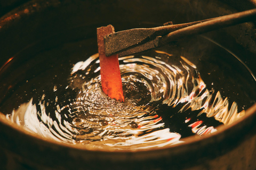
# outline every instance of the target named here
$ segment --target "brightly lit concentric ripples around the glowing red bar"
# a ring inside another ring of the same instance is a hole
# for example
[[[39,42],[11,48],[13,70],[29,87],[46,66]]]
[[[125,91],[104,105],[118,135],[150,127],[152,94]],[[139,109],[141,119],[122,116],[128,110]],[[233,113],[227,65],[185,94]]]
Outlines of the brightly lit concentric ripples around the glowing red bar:
[[[236,103],[229,106],[219,91],[207,89],[196,65],[186,57],[177,60],[156,50],[150,56],[121,57],[119,64],[124,103],[102,92],[95,54],[74,65],[68,86],[54,86],[54,97],[43,96],[39,103],[31,98],[6,118],[60,142],[147,149],[180,143],[191,134],[213,133],[216,126],[245,113],[237,112]]]

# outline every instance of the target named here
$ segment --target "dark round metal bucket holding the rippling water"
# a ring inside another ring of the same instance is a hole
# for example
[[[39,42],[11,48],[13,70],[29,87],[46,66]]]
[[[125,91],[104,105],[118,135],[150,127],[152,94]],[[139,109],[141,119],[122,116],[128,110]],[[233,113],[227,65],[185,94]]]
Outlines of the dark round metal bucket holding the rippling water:
[[[102,25],[113,24],[116,30],[125,30],[171,20],[185,23],[255,6],[254,1],[30,1],[0,19],[1,71],[13,56],[31,57],[60,43],[94,36],[95,28]],[[73,33],[67,34],[70,30]],[[47,39],[55,35],[58,37],[55,41]],[[232,49],[256,74],[253,23],[210,32],[207,36]],[[42,46],[35,48],[33,44],[38,40]],[[0,75],[1,80],[3,76]],[[9,88],[10,83],[1,82],[1,102]],[[254,102],[255,99],[254,96]],[[247,105],[250,108],[244,117],[219,126],[211,135],[188,137],[178,145],[141,151],[67,145],[25,131],[0,114],[0,166],[2,169],[256,169],[256,105],[253,101]]]

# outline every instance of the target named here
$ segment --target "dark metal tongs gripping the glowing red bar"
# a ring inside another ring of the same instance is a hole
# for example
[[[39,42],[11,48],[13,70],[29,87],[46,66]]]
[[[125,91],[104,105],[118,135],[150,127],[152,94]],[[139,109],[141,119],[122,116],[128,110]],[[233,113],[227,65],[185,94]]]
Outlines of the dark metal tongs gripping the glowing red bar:
[[[119,54],[119,56],[136,54],[164,46],[171,41],[177,41],[181,38],[254,20],[256,20],[256,8],[201,21],[174,25],[172,22],[167,22],[162,27],[119,31],[104,37],[105,53],[106,56],[113,54]]]

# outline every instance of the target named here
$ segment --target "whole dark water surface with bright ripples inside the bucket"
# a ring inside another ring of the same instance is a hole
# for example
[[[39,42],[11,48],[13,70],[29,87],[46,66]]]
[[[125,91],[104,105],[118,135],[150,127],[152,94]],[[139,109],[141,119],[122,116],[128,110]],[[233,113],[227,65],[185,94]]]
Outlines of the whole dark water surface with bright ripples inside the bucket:
[[[146,149],[214,133],[245,114],[255,80],[226,49],[196,42],[203,46],[120,57],[124,103],[101,90],[94,39],[13,58],[2,71],[10,86],[0,111],[43,137],[93,148]]]

